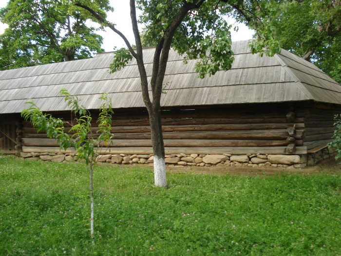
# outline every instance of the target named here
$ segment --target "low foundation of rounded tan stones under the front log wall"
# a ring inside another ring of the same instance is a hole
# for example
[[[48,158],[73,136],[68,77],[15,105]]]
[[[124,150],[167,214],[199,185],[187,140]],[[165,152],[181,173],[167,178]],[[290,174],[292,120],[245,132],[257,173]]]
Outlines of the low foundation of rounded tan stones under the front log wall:
[[[44,160],[54,162],[76,161],[76,155],[73,153],[21,153],[22,158],[27,160]],[[112,164],[151,164],[152,155],[99,155],[97,162],[106,162]],[[165,156],[166,165],[169,166],[226,166],[226,167],[278,167],[278,168],[303,168],[307,166],[306,155],[198,155],[198,154],[172,154]]]

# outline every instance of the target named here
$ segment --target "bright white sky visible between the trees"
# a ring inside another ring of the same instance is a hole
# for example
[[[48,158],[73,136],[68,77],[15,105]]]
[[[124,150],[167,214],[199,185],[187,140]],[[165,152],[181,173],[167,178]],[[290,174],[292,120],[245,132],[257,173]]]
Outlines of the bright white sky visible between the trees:
[[[0,8],[7,5],[8,0],[0,0]],[[108,20],[116,24],[116,28],[120,30],[130,41],[134,43],[133,30],[130,21],[130,8],[128,0],[110,0],[111,6],[114,7],[114,12],[108,14]],[[233,20],[230,20],[230,24],[234,25]],[[232,41],[251,39],[253,31],[249,30],[244,24],[236,24],[239,27],[238,32],[231,31]],[[0,23],[0,34],[3,33],[6,28],[5,24]],[[106,52],[111,52],[114,47],[117,49],[125,47],[123,39],[117,36],[112,30],[106,29],[106,31],[98,31],[103,37],[102,48]]]

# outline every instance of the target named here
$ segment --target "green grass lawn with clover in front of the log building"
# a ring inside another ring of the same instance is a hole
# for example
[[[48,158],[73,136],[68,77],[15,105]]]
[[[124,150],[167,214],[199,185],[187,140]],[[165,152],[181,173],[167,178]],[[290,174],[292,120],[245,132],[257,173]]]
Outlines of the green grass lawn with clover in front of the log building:
[[[168,174],[0,158],[0,255],[341,255],[341,176]]]

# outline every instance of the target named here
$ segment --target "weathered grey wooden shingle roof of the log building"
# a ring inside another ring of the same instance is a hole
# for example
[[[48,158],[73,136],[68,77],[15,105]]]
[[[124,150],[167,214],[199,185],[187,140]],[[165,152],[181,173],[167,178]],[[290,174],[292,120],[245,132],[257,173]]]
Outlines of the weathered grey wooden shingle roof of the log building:
[[[200,106],[314,100],[341,104],[341,85],[314,64],[285,50],[274,57],[252,55],[248,41],[233,42],[232,68],[205,79],[197,78],[196,60],[183,63],[171,51],[164,80],[167,94],[162,106]],[[154,49],[144,50],[150,78]],[[140,78],[133,59],[119,72],[109,74],[114,53],[34,67],[0,71],[0,113],[20,113],[27,98],[42,111],[68,110],[59,91],[66,88],[88,109],[100,107],[103,93],[112,98],[114,108],[144,107]]]

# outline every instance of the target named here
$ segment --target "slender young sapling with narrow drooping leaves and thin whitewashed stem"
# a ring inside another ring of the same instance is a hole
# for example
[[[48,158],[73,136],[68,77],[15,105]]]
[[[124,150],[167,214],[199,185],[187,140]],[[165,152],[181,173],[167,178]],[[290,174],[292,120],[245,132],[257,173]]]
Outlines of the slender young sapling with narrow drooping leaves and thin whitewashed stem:
[[[74,147],[76,149],[77,159],[85,161],[86,165],[90,163],[90,200],[91,200],[91,218],[90,218],[90,230],[94,244],[94,196],[93,196],[93,170],[96,163],[95,157],[97,152],[95,145],[99,147],[101,141],[105,141],[107,145],[108,141],[113,138],[111,134],[112,123],[112,110],[111,99],[108,99],[107,94],[103,94],[100,99],[104,100],[104,103],[99,108],[99,117],[97,122],[99,136],[94,139],[91,131],[91,116],[90,112],[86,110],[82,105],[79,105],[79,99],[77,96],[70,95],[66,89],[60,90],[60,94],[65,96],[65,101],[68,102],[68,106],[71,107],[72,113],[76,118],[76,123],[65,122],[59,118],[53,118],[51,114],[43,114],[38,106],[31,99],[26,102],[30,104],[28,109],[24,109],[21,113],[25,120],[29,120],[34,127],[37,128],[37,132],[44,131],[49,138],[56,138],[57,143],[60,144],[60,149],[66,150],[67,148]],[[72,117],[74,118],[74,117]],[[72,120],[73,122],[73,120]],[[69,134],[64,132],[65,125],[71,126]]]

